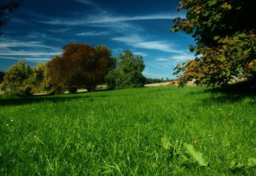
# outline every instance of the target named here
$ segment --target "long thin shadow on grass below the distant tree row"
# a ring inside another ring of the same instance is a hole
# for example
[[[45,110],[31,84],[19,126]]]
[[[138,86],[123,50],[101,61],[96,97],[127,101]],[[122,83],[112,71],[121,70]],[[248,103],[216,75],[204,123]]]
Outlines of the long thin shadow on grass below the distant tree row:
[[[79,100],[81,98],[88,98],[92,101],[96,97],[108,97],[107,95],[86,95],[87,93],[76,93],[72,95],[36,95],[31,97],[15,97],[15,98],[0,98],[0,106],[8,105],[24,105],[24,104],[35,104],[39,102],[66,102],[69,100]]]

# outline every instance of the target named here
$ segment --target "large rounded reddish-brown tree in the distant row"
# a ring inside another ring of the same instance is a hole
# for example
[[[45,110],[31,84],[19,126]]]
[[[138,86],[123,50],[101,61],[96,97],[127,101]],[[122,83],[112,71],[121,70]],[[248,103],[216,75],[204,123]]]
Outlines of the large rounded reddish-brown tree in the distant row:
[[[56,55],[49,63],[53,86],[56,90],[68,89],[71,93],[81,87],[95,91],[114,66],[111,55],[106,46],[93,48],[76,43],[63,46],[63,54]]]

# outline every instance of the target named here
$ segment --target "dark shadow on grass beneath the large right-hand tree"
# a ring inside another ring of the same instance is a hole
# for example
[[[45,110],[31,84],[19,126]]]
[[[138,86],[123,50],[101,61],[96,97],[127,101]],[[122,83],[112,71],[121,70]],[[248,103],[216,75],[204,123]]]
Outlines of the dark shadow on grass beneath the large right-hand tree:
[[[252,81],[243,81],[236,84],[225,85],[223,87],[207,89],[204,92],[212,94],[211,97],[203,100],[205,104],[212,101],[218,103],[233,103],[241,101],[246,97],[255,98],[256,87],[255,83]]]

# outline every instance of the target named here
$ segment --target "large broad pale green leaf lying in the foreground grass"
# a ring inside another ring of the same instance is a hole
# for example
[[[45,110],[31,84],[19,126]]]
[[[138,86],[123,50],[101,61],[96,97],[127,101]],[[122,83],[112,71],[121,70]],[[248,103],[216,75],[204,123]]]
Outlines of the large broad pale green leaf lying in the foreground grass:
[[[208,166],[209,161],[207,160],[207,158],[203,156],[203,153],[201,153],[200,151],[197,151],[197,149],[195,149],[193,145],[184,143],[184,147],[186,149],[186,153],[188,153],[188,155],[191,158],[197,161],[200,166]]]

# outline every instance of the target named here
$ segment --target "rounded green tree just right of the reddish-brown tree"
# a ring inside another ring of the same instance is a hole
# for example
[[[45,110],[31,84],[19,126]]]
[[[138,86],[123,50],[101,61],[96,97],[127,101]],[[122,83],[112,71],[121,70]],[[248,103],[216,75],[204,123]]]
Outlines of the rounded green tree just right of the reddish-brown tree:
[[[119,54],[116,68],[105,78],[108,89],[143,87],[146,82],[146,78],[142,75],[144,67],[141,56],[134,56],[129,50]]]

